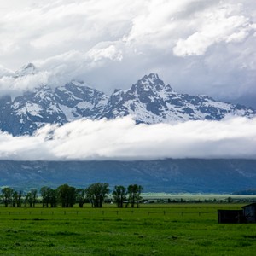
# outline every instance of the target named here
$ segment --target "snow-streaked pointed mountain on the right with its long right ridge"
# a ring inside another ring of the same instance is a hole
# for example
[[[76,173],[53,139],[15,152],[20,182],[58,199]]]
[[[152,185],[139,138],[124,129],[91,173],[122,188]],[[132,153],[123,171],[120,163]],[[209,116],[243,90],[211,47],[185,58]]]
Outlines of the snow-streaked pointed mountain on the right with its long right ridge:
[[[151,73],[133,84],[130,90],[118,90],[110,96],[103,116],[114,119],[131,114],[137,123],[160,123],[197,119],[223,119],[227,114],[253,117],[255,111],[243,106],[216,102],[208,96],[178,94]]]

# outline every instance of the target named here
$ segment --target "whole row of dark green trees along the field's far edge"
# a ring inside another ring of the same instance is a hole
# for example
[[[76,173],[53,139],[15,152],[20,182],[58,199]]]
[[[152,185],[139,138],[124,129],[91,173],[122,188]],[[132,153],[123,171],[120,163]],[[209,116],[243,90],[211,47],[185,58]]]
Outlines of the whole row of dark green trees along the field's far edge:
[[[127,188],[115,186],[112,194],[108,183],[93,183],[85,189],[76,189],[68,184],[63,184],[57,189],[44,186],[40,190],[31,189],[25,193],[5,187],[1,191],[1,201],[5,207],[35,207],[41,203],[43,207],[73,207],[76,203],[84,207],[85,202],[90,202],[91,207],[102,207],[109,195],[117,207],[139,207],[142,201],[143,187],[131,184]],[[38,197],[40,195],[40,198]]]

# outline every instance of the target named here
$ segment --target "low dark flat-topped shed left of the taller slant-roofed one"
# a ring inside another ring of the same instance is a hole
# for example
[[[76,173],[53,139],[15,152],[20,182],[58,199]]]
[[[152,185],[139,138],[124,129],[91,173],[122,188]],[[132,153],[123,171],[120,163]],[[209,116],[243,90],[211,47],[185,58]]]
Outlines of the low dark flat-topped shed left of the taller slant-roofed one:
[[[218,210],[218,223],[244,223],[242,210]]]

